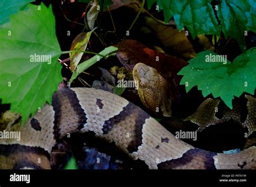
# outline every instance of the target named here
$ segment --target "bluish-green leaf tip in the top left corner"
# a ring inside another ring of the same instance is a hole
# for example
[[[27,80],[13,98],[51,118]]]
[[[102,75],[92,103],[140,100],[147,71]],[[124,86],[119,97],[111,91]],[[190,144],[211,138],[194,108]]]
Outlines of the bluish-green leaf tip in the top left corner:
[[[9,22],[10,15],[17,13],[33,0],[2,0],[0,2],[0,25]]]

